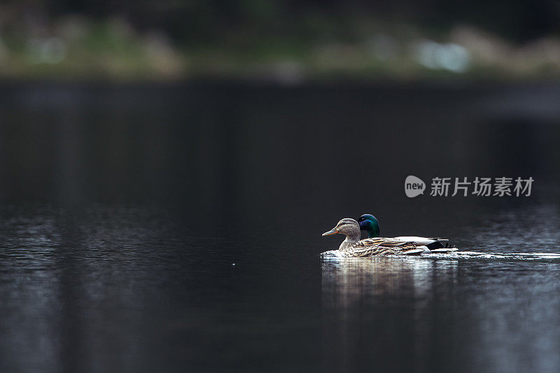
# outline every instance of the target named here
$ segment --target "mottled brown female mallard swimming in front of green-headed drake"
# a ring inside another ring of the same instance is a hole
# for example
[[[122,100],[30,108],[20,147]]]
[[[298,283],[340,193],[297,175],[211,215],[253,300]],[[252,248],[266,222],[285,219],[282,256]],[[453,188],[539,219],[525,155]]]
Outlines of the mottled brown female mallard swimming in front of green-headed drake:
[[[344,218],[338,222],[332,230],[323,233],[323,236],[331,234],[344,234],[346,239],[338,248],[341,256],[363,257],[374,255],[419,255],[426,251],[425,246],[414,244],[414,242],[400,241],[398,239],[386,239],[381,237],[363,239],[360,241],[360,225],[356,220]]]

